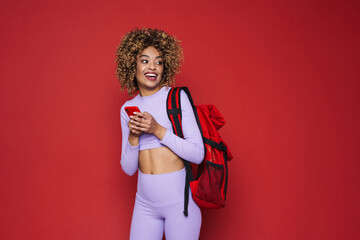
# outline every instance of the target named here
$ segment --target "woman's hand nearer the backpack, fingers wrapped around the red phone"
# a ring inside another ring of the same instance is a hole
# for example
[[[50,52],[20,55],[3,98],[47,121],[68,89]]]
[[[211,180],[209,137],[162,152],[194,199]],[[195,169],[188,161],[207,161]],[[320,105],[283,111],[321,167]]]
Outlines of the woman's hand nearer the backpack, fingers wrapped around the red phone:
[[[135,112],[130,122],[136,130],[153,134],[160,140],[164,137],[167,131],[166,128],[158,124],[155,118],[148,112]]]

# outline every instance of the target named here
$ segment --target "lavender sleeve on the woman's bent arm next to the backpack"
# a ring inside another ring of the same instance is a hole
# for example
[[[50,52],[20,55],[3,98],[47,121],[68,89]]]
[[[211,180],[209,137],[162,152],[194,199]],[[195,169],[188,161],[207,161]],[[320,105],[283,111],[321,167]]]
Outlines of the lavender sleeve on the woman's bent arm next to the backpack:
[[[167,130],[160,142],[180,158],[200,164],[205,154],[204,143],[189,98],[184,91],[180,94],[184,139]]]

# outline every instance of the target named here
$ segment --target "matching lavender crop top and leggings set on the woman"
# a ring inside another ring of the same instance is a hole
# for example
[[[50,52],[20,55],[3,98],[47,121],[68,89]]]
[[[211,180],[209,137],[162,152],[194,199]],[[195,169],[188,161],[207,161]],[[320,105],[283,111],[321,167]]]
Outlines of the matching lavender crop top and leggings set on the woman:
[[[182,129],[184,139],[173,133],[166,113],[166,98],[170,87],[163,87],[150,96],[138,94],[127,101],[120,111],[122,129],[121,167],[128,175],[138,170],[139,151],[168,147],[177,156],[199,164],[204,158],[204,144],[187,95],[181,92]],[[141,112],[150,113],[167,129],[162,140],[152,134],[143,133],[139,145],[131,146],[130,120],[124,108],[137,106]],[[161,240],[163,232],[167,240],[198,239],[201,227],[201,212],[189,197],[189,216],[184,216],[185,169],[164,174],[144,174],[138,171],[136,200],[131,222],[131,240]]]

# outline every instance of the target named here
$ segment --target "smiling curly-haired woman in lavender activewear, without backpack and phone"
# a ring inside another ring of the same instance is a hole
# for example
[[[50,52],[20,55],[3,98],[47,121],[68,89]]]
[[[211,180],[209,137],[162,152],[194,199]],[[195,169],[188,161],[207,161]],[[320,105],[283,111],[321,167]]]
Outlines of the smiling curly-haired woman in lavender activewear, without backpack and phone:
[[[179,41],[157,29],[127,33],[116,53],[117,77],[122,90],[138,94],[121,107],[121,166],[138,186],[130,239],[198,239],[201,212],[191,194],[188,216],[184,210],[183,159],[199,164],[204,145],[187,95],[181,92],[184,138],[173,133],[166,113],[166,98],[182,61]],[[125,107],[140,112],[128,116]]]

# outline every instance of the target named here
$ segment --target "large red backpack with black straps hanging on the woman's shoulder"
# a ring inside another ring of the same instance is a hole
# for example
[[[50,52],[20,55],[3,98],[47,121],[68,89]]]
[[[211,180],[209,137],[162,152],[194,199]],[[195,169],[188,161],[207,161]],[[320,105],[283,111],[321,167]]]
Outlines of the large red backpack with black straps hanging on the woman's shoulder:
[[[193,177],[191,165],[184,160],[186,168],[184,215],[188,215],[189,186],[192,197],[201,208],[220,208],[225,206],[228,184],[227,161],[232,155],[219,130],[225,120],[214,105],[195,106],[187,87],[172,88],[167,97],[167,114],[173,125],[174,133],[184,138],[181,128],[180,91],[184,90],[193,107],[195,118],[199,126],[205,149],[204,160],[197,166],[196,178]]]

